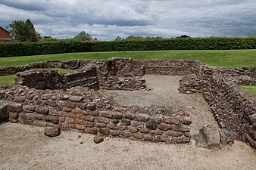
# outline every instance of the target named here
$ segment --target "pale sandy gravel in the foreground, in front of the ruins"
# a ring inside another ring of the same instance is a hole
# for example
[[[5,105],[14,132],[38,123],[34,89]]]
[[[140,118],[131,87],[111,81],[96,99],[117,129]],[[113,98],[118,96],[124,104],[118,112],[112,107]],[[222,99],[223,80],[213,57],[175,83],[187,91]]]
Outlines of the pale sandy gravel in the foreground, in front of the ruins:
[[[81,135],[81,138],[78,138]],[[62,131],[55,138],[43,128],[0,125],[0,169],[256,169],[255,151],[236,141],[221,150],[191,144],[163,144]],[[83,144],[80,144],[83,143]]]

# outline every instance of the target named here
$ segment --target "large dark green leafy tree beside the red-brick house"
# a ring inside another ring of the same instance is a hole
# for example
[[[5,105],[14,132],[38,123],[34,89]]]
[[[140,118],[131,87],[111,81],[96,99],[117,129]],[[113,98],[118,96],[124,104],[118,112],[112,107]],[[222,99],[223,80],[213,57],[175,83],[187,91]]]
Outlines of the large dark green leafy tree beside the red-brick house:
[[[8,29],[11,37],[18,42],[38,42],[41,38],[30,19],[27,19],[26,22],[14,20],[9,24]]]

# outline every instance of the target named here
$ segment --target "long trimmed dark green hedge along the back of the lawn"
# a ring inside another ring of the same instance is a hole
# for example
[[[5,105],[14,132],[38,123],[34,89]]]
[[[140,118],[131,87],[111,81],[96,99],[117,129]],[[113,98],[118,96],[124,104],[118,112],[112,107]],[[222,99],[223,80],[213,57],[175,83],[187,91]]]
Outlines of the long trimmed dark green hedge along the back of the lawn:
[[[213,37],[112,42],[5,42],[0,57],[70,52],[256,49],[256,37]]]

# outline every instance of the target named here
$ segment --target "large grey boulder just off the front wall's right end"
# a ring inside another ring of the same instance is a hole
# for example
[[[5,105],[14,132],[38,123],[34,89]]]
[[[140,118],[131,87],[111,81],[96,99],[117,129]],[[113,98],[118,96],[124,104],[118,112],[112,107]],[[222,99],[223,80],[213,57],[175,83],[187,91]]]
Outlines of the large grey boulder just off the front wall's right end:
[[[195,136],[196,146],[214,149],[220,147],[220,133],[211,125],[204,125]]]

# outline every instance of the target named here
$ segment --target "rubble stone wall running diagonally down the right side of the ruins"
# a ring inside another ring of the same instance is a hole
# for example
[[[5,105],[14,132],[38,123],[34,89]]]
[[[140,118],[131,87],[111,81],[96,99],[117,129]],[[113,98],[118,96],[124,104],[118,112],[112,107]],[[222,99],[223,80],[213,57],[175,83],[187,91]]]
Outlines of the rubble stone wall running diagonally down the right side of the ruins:
[[[242,91],[228,78],[223,77],[220,70],[205,67],[198,75],[184,76],[179,90],[203,94],[220,128],[235,131],[237,139],[256,148],[255,97]]]

